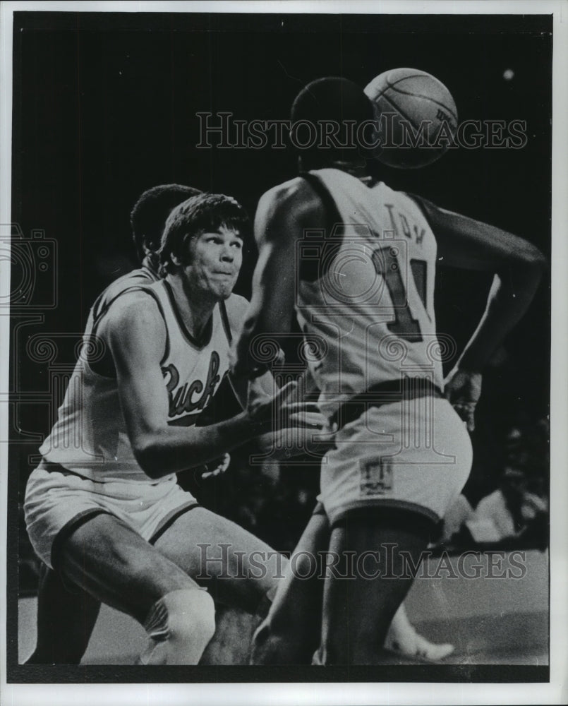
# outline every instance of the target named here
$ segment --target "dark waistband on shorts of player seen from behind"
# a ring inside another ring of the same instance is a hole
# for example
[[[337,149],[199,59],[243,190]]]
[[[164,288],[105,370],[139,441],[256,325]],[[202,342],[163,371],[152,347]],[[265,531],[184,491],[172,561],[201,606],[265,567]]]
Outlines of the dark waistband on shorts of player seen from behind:
[[[346,424],[361,417],[368,407],[382,407],[392,402],[416,400],[419,397],[444,397],[444,393],[428,378],[400,378],[377,383],[367,392],[354,395],[350,400],[343,402],[337,412],[332,414],[330,425],[332,428],[342,429]]]

